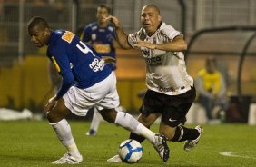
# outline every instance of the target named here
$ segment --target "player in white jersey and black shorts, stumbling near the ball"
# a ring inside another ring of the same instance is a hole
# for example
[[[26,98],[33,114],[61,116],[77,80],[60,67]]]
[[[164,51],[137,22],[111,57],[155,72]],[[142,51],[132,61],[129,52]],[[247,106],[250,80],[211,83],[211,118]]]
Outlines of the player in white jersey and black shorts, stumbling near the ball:
[[[155,5],[145,5],[141,13],[142,28],[134,34],[125,34],[119,20],[113,15],[110,20],[123,49],[140,47],[146,62],[147,92],[140,109],[139,122],[150,127],[162,115],[159,133],[167,140],[183,142],[184,150],[197,145],[202,135],[202,127],[186,128],[188,113],[194,99],[195,88],[192,77],[187,74],[184,54],[187,44],[180,32],[162,22],[160,10]],[[144,138],[131,133],[131,139],[143,142]],[[109,162],[122,162],[118,155]]]

